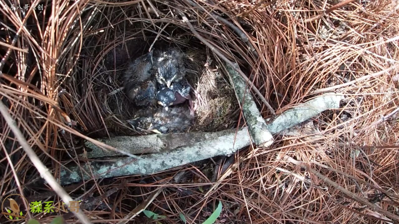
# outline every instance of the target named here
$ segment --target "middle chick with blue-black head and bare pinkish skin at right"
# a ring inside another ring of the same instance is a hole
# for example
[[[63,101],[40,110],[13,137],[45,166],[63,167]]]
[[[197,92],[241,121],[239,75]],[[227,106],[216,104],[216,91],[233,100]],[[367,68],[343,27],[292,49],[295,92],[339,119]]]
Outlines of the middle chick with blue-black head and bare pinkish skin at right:
[[[166,110],[171,105],[181,104],[188,100],[190,104],[190,114],[194,115],[193,100],[190,96],[191,87],[185,78],[172,83],[170,88],[163,88],[158,91],[156,96],[158,104],[164,106]]]

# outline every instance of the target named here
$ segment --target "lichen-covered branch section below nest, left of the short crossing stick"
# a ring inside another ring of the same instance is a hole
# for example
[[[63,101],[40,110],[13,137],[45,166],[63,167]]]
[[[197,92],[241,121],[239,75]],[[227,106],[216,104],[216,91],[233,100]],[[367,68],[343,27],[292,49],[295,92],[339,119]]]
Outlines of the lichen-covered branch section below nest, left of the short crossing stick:
[[[107,159],[106,162],[92,161],[82,167],[69,166],[61,171],[61,185],[79,182],[83,179],[119,177],[132,174],[146,175],[156,173],[187,163],[215,157],[218,155],[231,155],[249,145],[247,129],[240,130],[237,138],[234,134],[227,134],[211,138],[188,146],[182,146],[172,151],[163,151],[143,155],[140,160],[131,157]],[[83,173],[88,171],[88,173]]]

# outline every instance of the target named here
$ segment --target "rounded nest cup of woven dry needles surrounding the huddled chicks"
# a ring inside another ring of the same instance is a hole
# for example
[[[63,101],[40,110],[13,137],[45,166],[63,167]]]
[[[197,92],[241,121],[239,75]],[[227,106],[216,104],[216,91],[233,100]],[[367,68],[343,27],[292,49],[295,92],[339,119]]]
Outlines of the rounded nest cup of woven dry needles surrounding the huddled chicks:
[[[89,18],[82,33],[84,47],[71,74],[75,85],[66,86],[71,101],[79,99],[81,106],[65,104],[65,108],[67,113],[79,116],[84,124],[82,131],[89,136],[137,134],[126,120],[134,118],[140,108],[134,106],[121,88],[123,73],[129,62],[149,49],[169,47],[176,47],[186,55],[186,78],[193,87],[191,95],[196,110],[190,130],[212,132],[236,125],[237,100],[221,61],[190,33],[170,5],[154,4],[154,8],[142,4],[93,7],[86,12]],[[112,16],[105,17],[98,10],[111,11],[107,14]]]

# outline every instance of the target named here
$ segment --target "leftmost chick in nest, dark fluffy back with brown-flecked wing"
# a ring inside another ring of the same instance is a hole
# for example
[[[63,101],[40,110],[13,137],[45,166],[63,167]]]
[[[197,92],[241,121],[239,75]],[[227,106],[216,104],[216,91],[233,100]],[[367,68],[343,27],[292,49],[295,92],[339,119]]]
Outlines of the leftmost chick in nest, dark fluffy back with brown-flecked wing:
[[[146,53],[134,60],[123,76],[124,90],[137,106],[152,103],[156,96],[156,82],[152,76],[152,53]]]

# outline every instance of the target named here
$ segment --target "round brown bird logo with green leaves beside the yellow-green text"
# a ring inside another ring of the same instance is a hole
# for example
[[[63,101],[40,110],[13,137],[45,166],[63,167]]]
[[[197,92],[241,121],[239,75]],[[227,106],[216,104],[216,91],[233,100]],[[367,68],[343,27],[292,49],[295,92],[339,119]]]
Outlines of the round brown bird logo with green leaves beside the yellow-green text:
[[[12,196],[13,196],[13,198],[12,198]],[[26,198],[24,196],[19,195],[19,194],[8,195],[6,198],[4,198],[4,200],[1,204],[1,210],[2,210],[1,214],[6,216],[6,218],[10,221],[21,221],[22,219],[26,218],[20,209],[20,205],[14,199],[17,197],[22,198],[22,200],[25,200],[26,203],[29,204],[28,200],[26,200]],[[18,200],[18,201],[22,201],[22,200]],[[6,202],[9,202],[10,206],[7,206]]]

